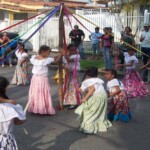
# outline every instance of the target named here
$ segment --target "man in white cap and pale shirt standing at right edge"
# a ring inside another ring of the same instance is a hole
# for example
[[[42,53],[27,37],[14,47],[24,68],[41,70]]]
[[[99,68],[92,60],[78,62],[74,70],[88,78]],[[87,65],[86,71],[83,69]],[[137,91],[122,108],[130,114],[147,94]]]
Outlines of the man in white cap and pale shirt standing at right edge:
[[[150,57],[150,25],[149,24],[144,24],[144,31],[141,34],[140,42],[141,42],[142,52]],[[149,59],[149,57],[146,55],[143,55],[144,65],[147,64]]]

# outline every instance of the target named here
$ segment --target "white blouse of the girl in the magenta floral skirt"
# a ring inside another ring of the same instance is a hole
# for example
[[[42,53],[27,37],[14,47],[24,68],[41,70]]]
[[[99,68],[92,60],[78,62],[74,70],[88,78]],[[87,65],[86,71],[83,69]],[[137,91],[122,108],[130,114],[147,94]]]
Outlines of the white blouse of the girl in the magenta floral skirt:
[[[126,65],[130,64],[131,61],[134,61],[132,66],[126,66],[127,69],[135,69],[136,68],[136,64],[138,63],[138,59],[135,55],[130,56],[128,53],[124,53],[125,56],[125,63]]]

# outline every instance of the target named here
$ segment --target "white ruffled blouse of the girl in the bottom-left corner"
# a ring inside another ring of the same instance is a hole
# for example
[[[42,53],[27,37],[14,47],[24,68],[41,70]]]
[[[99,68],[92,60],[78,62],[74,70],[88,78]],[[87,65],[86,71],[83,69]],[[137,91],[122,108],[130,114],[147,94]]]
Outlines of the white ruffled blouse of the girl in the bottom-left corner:
[[[25,113],[20,105],[9,103],[0,103],[0,134],[9,134],[13,132],[14,118],[25,120]]]

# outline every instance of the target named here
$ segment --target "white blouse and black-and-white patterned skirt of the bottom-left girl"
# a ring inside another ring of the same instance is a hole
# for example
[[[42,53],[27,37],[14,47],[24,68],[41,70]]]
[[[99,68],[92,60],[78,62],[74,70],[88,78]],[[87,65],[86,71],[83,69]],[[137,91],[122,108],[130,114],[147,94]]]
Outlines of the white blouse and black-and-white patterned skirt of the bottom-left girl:
[[[0,150],[18,150],[13,136],[14,118],[25,120],[25,114],[20,105],[0,104]]]

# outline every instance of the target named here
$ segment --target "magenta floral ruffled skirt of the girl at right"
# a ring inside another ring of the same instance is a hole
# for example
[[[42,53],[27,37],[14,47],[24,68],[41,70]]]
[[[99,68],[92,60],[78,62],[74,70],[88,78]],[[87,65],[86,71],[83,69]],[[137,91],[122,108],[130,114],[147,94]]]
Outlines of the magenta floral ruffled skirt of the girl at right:
[[[122,82],[129,98],[142,97],[150,94],[148,87],[135,70],[128,69]]]

